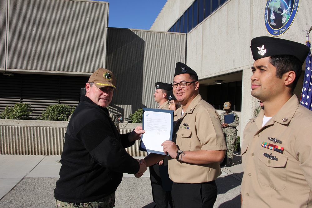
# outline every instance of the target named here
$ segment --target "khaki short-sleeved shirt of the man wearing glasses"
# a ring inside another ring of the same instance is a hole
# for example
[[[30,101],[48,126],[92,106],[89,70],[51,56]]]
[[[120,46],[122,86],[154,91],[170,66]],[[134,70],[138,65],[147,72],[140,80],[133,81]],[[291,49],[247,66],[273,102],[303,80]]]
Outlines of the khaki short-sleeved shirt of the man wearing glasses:
[[[227,150],[217,111],[198,94],[181,117],[182,107],[174,112],[173,141],[184,151]],[[168,161],[169,177],[176,183],[204,183],[221,175],[219,162],[191,164]]]

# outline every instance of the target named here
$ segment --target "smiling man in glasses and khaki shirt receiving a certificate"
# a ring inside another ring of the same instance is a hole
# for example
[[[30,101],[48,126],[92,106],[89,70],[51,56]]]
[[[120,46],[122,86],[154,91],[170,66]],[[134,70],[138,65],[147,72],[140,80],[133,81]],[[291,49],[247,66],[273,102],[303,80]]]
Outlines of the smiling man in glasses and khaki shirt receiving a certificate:
[[[173,206],[213,207],[217,198],[215,179],[227,150],[217,111],[198,93],[198,76],[187,65],[176,64],[173,94],[182,106],[174,112],[173,139],[163,151],[170,155],[169,177],[173,181]],[[149,154],[147,166],[163,155]]]

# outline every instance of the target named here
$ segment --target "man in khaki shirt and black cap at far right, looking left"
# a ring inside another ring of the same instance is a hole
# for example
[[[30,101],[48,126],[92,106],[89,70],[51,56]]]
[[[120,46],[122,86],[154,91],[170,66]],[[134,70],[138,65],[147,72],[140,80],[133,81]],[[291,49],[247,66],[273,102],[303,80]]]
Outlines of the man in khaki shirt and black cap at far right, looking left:
[[[264,110],[244,130],[242,207],[312,207],[312,112],[293,94],[310,49],[274,37],[250,47],[251,95]]]

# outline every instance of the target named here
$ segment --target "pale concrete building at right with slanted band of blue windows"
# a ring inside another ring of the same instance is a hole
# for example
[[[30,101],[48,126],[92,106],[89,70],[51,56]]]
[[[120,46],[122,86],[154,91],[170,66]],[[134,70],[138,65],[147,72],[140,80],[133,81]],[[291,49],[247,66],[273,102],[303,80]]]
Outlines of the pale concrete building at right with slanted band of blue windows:
[[[302,30],[311,27],[312,2],[276,2],[291,5],[291,12],[296,12],[296,16],[288,29],[282,27],[275,36],[282,33],[279,38],[305,44],[306,36]],[[168,0],[150,28],[155,31],[187,32],[186,64],[198,74],[200,94],[219,109],[219,113],[225,101],[231,101],[232,106],[234,104],[232,110],[240,117],[237,128],[240,136],[259,105],[258,100],[251,96],[250,77],[254,61],[250,41],[257,36],[271,36],[265,21],[265,15],[271,20],[273,18],[272,13],[267,14],[271,3],[270,0]],[[279,13],[275,12],[276,18],[287,14],[287,11],[287,7],[284,10],[279,8]],[[224,84],[218,86],[215,82],[220,81]],[[299,100],[302,84],[303,75],[295,89]]]

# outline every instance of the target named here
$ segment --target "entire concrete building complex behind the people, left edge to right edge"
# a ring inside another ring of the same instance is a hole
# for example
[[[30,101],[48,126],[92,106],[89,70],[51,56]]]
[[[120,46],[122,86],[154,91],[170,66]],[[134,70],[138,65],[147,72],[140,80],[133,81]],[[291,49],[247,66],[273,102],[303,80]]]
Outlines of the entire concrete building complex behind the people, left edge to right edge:
[[[36,117],[50,104],[76,106],[80,89],[102,67],[117,78],[110,109],[124,119],[142,107],[157,107],[154,83],[170,83],[175,63],[184,62],[197,72],[203,99],[219,113],[224,102],[232,102],[242,136],[258,105],[250,94],[250,41],[270,36],[264,20],[270,3],[168,0],[150,30],[135,30],[108,27],[108,2],[1,1],[0,72],[14,76],[0,75],[0,110],[30,103]],[[304,44],[312,2],[289,3],[296,16],[280,38]],[[283,16],[287,9],[277,12]]]

